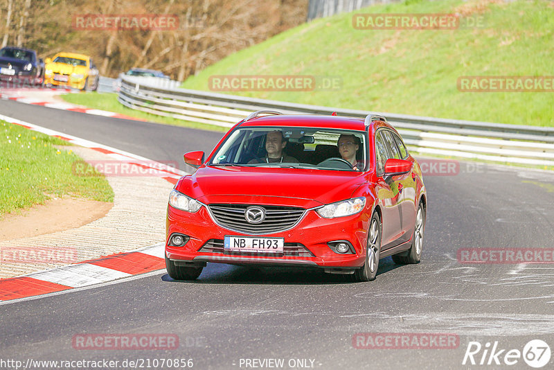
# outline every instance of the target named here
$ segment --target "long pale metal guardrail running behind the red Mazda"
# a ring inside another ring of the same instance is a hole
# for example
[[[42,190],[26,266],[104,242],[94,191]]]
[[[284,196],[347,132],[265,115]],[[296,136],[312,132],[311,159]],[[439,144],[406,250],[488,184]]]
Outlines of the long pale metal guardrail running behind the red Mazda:
[[[554,166],[554,128],[505,125],[445,118],[409,116],[245,98],[207,91],[159,87],[124,77],[118,101],[143,112],[231,127],[253,111],[274,109],[285,114],[385,116],[402,134],[410,150],[483,161],[528,166]]]

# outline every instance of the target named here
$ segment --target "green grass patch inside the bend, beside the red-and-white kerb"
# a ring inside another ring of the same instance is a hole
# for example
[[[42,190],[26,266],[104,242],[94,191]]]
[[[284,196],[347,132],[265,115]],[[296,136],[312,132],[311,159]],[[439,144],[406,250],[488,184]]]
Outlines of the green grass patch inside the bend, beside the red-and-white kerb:
[[[72,173],[82,159],[55,146],[68,143],[19,125],[0,121],[0,218],[51,195],[84,197],[113,202],[114,191],[103,176],[78,177]]]

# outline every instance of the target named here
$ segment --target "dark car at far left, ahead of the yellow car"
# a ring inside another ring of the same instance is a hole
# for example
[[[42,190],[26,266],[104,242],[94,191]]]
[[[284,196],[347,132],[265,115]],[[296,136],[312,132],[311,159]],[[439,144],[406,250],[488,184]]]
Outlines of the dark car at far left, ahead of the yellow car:
[[[6,46],[0,49],[0,79],[42,85],[44,61],[34,50]]]

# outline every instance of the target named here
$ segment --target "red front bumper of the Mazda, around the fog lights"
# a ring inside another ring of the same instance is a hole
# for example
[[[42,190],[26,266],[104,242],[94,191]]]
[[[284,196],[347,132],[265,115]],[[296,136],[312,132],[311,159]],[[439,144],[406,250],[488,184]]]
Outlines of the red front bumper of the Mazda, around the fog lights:
[[[285,252],[284,254],[269,253],[237,253],[205,252],[206,245],[213,245],[213,240],[220,243],[225,236],[252,236],[237,231],[231,231],[215,224],[210,213],[202,206],[196,213],[180,211],[168,206],[166,224],[166,256],[172,261],[215,262],[255,265],[296,265],[323,268],[353,268],[361,267],[365,261],[365,245],[367,240],[368,221],[371,209],[364,209],[356,215],[341,218],[321,218],[316,211],[307,211],[296,226],[287,231],[273,234],[256,235],[260,237],[283,238],[286,245],[302,245],[308,253]],[[172,234],[184,234],[190,239],[181,246],[168,245]],[[348,240],[355,253],[338,254],[333,252],[328,242]],[[204,248],[203,248],[204,247]],[[298,247],[301,248],[301,247]],[[199,249],[204,249],[200,251]]]

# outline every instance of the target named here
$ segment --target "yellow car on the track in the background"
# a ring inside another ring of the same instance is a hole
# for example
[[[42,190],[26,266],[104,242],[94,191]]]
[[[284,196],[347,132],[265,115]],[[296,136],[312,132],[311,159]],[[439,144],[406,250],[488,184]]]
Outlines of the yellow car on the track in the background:
[[[44,84],[67,86],[80,90],[98,89],[99,73],[92,58],[76,53],[57,53],[46,58]]]

